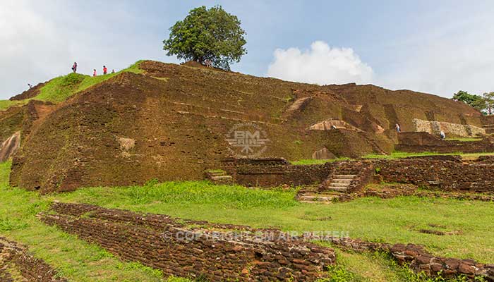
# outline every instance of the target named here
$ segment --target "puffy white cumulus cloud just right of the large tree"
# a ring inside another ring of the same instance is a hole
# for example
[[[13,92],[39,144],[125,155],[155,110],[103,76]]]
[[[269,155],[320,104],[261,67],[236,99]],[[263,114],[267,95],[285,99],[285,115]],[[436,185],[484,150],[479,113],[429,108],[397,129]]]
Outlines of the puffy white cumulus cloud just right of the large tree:
[[[315,41],[311,49],[276,49],[267,75],[283,80],[324,84],[373,80],[373,70],[363,63],[351,48],[331,48],[326,42]]]

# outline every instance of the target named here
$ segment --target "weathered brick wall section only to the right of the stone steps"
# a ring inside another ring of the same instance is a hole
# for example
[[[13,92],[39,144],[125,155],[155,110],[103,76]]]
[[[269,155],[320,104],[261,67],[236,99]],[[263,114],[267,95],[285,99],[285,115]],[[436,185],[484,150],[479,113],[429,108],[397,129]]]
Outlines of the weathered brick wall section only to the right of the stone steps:
[[[411,183],[445,191],[494,192],[491,157],[462,161],[460,157],[435,156],[374,161],[378,176],[388,183]]]

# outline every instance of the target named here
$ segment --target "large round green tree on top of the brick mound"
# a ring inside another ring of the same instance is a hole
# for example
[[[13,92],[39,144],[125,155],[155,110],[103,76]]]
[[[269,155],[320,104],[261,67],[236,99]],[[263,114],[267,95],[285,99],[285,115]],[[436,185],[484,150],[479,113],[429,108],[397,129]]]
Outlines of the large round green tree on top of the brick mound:
[[[168,55],[229,70],[230,63],[239,62],[247,51],[243,48],[246,32],[240,20],[221,6],[194,8],[183,20],[170,27],[170,37],[163,41]]]

